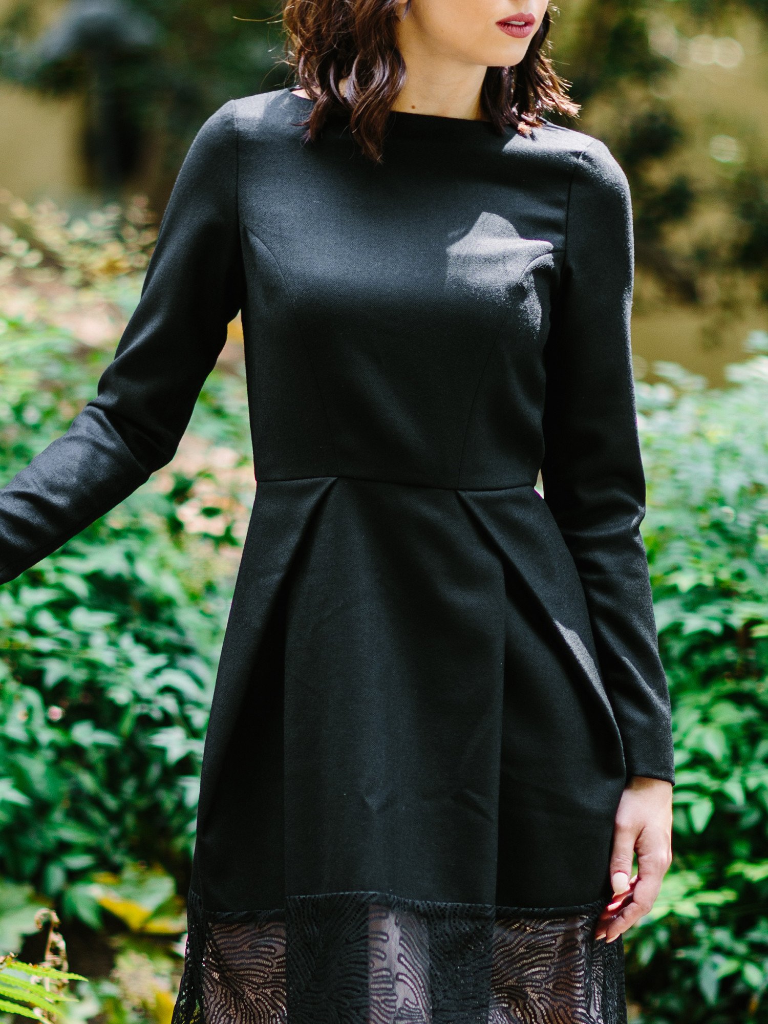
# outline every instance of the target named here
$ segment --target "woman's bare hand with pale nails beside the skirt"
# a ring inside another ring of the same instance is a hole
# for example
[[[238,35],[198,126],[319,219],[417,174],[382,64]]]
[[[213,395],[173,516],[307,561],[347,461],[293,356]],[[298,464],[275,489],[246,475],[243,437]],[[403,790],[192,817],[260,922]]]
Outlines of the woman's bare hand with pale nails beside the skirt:
[[[632,857],[637,851],[637,874]],[[672,863],[672,784],[633,775],[618,803],[610,855],[613,899],[597,921],[595,938],[612,942],[653,906]]]

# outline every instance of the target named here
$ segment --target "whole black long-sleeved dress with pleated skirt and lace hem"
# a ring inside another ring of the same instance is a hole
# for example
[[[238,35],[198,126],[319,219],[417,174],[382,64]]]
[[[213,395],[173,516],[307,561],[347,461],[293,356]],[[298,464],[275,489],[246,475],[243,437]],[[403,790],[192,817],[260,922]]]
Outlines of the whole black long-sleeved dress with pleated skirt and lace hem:
[[[628,775],[674,782],[606,147],[312,100],[198,134],[98,395],[0,492],[0,580],[172,458],[242,309],[257,493],[174,1024],[609,1024]],[[542,473],[544,498],[537,489]]]

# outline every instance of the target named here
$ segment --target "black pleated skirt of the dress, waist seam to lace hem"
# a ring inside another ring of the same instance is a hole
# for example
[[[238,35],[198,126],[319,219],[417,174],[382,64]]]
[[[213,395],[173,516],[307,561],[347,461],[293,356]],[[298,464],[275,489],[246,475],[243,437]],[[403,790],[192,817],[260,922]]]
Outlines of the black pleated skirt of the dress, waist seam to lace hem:
[[[623,1024],[625,781],[532,486],[259,481],[173,1024]]]

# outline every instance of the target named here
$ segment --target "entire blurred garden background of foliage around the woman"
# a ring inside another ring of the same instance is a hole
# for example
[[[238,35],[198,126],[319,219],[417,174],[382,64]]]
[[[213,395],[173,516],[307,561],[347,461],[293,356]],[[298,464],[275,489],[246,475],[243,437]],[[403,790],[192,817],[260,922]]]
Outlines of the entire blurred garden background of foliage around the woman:
[[[569,0],[554,30],[635,210],[677,758],[625,937],[642,1024],[768,1022],[767,32],[768,0]],[[0,485],[95,393],[195,132],[282,58],[258,0],[0,0]],[[170,1021],[249,445],[236,322],[173,462],[0,588],[0,1019]],[[24,989],[3,953],[83,979]]]

